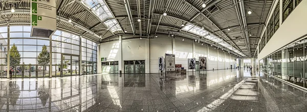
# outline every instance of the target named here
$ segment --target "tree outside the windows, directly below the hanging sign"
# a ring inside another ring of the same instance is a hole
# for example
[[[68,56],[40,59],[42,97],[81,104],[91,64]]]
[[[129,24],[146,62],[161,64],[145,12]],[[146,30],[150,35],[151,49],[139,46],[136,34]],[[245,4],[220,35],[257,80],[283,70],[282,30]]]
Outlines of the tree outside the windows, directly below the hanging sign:
[[[41,52],[37,56],[37,63],[42,66],[42,76],[45,76],[46,74],[46,69],[47,69],[47,64],[50,62],[50,53],[47,50],[47,46],[43,45]]]

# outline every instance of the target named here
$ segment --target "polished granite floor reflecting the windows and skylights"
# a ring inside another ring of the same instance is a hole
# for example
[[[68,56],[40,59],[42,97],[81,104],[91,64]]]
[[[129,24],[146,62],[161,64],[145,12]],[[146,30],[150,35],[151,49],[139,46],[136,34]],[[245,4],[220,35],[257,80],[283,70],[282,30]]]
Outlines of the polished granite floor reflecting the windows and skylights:
[[[0,111],[307,111],[307,94],[244,69],[0,78]]]

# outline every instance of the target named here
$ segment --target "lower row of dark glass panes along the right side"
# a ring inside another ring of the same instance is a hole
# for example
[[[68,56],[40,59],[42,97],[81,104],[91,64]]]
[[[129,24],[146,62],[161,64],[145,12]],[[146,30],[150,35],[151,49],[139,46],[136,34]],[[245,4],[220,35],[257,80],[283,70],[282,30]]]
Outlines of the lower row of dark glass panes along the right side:
[[[306,42],[302,39],[260,60],[260,71],[307,88]]]

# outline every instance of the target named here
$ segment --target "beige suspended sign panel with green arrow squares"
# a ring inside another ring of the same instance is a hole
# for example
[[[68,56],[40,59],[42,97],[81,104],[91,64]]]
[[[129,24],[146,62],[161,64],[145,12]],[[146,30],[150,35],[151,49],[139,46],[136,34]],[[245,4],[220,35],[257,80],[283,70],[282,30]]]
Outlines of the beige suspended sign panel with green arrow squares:
[[[49,38],[56,31],[55,0],[31,0],[31,36]]]

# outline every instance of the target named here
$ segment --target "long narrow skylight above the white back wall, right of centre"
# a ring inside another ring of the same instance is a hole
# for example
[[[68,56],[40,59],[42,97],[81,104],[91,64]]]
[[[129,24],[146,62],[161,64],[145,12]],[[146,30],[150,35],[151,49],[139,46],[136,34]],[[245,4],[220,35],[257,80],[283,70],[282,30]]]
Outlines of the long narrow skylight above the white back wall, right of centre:
[[[189,24],[183,27],[184,31],[188,31],[190,33],[205,37],[208,40],[211,40],[215,43],[220,44],[221,46],[224,46],[226,48],[228,48],[229,50],[232,50],[240,55],[242,55],[243,57],[245,57],[246,55],[243,54],[242,52],[240,52],[239,50],[237,50],[236,48],[233,48],[229,43],[225,42],[223,39],[216,37],[215,35],[208,35],[209,32],[203,30],[201,27],[196,26],[194,24]]]

